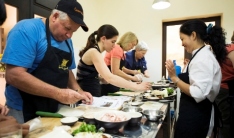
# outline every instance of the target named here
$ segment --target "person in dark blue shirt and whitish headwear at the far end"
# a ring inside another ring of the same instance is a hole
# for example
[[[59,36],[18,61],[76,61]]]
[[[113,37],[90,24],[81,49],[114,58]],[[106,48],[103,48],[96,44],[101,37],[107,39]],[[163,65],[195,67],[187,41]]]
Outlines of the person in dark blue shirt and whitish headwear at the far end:
[[[127,52],[125,59],[125,68],[123,68],[123,71],[132,75],[142,73],[145,77],[149,78],[146,60],[144,57],[148,49],[148,45],[144,41],[140,41],[135,46],[135,50]]]

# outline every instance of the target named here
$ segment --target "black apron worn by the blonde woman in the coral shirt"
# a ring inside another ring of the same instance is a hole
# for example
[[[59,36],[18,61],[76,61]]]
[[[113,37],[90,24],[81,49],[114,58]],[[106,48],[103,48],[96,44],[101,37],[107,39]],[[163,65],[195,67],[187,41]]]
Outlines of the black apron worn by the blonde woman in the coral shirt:
[[[119,69],[122,70],[122,68],[124,67],[125,65],[125,55],[123,53],[123,57],[124,59],[121,58],[120,60],[120,66],[119,66]],[[111,66],[109,65],[108,68],[110,69],[111,71]],[[114,92],[117,92],[119,91],[119,87],[116,87],[112,84],[102,84],[101,85],[101,90],[102,90],[102,95],[108,95],[108,93],[114,93]]]

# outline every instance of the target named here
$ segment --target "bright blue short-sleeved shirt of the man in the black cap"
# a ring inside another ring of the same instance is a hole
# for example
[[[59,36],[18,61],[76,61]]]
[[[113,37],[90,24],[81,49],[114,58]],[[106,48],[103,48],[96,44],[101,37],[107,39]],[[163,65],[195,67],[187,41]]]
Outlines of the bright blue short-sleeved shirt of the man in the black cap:
[[[75,59],[71,39],[67,40],[72,52],[72,65],[69,69],[75,69]],[[58,42],[51,36],[51,45],[69,52],[65,41]],[[37,68],[47,50],[46,28],[40,18],[25,19],[19,21],[8,33],[6,49],[2,62],[23,68],[32,72]],[[24,79],[24,78],[22,78]],[[5,90],[7,106],[22,110],[23,101],[17,88],[12,85]]]

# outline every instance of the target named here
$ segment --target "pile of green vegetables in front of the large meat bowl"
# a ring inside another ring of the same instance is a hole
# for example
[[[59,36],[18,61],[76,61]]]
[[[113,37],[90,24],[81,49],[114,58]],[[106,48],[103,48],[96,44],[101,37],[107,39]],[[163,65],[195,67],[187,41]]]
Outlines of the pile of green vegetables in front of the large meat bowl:
[[[91,124],[86,124],[83,122],[80,127],[72,132],[72,135],[75,136],[79,132],[96,132],[96,126]]]

